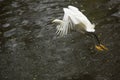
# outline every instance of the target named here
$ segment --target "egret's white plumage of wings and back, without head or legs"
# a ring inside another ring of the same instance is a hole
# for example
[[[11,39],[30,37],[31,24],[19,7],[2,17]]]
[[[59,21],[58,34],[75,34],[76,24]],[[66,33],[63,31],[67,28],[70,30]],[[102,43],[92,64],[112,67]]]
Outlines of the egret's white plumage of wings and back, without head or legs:
[[[87,17],[82,12],[80,12],[78,8],[74,6],[68,6],[68,8],[63,8],[63,10],[63,23],[57,26],[56,33],[58,35],[67,35],[68,31],[74,29],[78,24],[80,28],[83,28],[88,32],[94,31],[94,25],[90,23]]]

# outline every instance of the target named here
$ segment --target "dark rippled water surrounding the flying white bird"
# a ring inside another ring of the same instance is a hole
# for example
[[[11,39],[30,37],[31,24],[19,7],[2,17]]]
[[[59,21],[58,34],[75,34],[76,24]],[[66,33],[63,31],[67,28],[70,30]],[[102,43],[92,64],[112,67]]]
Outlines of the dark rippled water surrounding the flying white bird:
[[[51,21],[74,5],[109,50]],[[0,0],[0,80],[120,80],[120,0]]]

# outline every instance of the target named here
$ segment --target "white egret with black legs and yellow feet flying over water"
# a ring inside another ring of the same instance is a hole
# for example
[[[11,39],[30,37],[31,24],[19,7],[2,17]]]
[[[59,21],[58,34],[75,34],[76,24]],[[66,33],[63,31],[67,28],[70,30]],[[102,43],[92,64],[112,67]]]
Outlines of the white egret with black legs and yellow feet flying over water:
[[[62,20],[55,19],[53,20],[53,23],[57,24],[57,35],[64,36],[67,35],[67,33],[70,30],[76,30],[78,32],[89,34],[94,36],[96,40],[96,49],[100,51],[107,50],[107,48],[100,43],[100,40],[98,39],[95,32],[95,24],[92,24],[88,18],[79,11],[78,8],[74,6],[68,6],[68,8],[63,8],[64,16]]]

